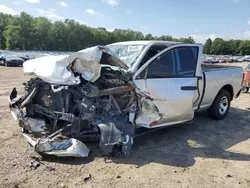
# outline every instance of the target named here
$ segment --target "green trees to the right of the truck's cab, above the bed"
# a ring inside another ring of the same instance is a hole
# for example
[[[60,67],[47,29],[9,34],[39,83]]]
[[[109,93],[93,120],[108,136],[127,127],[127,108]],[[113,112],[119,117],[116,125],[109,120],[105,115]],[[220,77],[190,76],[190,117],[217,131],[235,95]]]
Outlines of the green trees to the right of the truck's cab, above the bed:
[[[250,40],[206,40],[203,47],[205,54],[214,55],[250,55]]]

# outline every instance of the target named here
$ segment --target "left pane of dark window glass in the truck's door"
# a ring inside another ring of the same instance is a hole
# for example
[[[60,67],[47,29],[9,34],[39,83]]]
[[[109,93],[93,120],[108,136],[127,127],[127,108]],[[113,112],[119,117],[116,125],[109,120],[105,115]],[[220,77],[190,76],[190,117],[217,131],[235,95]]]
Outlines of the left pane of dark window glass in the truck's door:
[[[173,51],[161,55],[148,66],[147,78],[167,78],[175,76]]]

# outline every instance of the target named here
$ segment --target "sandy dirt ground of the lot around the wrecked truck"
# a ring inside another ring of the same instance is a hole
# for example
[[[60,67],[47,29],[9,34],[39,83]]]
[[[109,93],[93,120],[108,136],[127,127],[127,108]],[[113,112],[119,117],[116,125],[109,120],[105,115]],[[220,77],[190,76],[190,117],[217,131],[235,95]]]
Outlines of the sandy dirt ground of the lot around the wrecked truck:
[[[194,123],[136,139],[128,157],[105,157],[93,143],[87,159],[50,158],[31,169],[33,154],[7,103],[27,77],[22,68],[0,70],[0,187],[250,187],[250,94],[233,101],[223,121],[200,113]]]

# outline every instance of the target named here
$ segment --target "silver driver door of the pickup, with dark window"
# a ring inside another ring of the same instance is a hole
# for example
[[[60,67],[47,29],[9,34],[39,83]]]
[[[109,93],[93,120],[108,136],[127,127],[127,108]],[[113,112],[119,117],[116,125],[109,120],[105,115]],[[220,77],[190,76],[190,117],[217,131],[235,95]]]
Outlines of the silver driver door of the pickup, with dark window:
[[[146,62],[134,75],[137,88],[150,96],[161,119],[147,128],[192,120],[193,106],[199,100],[200,46],[171,46]]]

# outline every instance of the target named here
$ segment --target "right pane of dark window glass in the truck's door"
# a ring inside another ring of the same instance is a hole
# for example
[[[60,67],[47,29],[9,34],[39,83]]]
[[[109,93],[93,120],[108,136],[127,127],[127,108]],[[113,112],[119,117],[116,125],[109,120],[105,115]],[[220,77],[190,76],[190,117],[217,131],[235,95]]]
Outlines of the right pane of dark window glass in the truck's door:
[[[195,76],[198,48],[181,47],[175,50],[176,66],[178,76]]]

